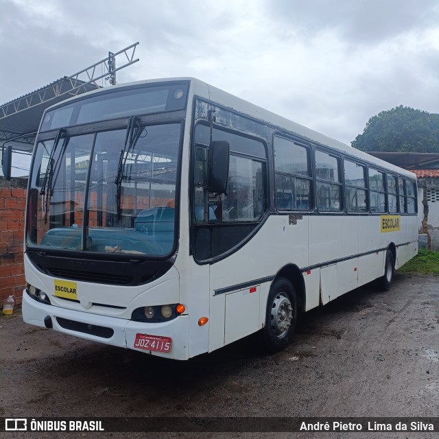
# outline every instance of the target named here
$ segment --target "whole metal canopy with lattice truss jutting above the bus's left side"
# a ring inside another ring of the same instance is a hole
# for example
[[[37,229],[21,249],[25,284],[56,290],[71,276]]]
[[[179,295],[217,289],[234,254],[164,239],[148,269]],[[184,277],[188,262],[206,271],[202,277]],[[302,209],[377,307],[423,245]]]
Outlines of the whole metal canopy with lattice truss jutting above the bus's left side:
[[[108,52],[106,58],[90,67],[0,106],[0,151],[6,143],[13,145],[16,151],[32,151],[44,110],[69,97],[100,88],[98,80],[105,78],[110,84],[116,84],[116,72],[139,61],[134,59],[138,44],[116,53]]]

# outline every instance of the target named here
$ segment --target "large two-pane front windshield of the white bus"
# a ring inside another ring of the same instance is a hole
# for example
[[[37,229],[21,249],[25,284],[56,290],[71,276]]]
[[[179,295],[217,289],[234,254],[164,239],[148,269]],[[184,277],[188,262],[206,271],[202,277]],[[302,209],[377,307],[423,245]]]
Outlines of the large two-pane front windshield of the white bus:
[[[30,247],[165,256],[174,246],[181,124],[38,141],[30,176]]]

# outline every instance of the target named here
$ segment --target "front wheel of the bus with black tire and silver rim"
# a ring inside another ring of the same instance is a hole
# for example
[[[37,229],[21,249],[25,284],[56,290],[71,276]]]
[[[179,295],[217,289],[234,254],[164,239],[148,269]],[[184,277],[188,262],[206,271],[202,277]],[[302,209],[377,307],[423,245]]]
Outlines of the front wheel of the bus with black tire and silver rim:
[[[265,313],[263,341],[270,353],[286,348],[291,342],[297,322],[298,301],[292,283],[285,277],[274,281],[270,288]]]

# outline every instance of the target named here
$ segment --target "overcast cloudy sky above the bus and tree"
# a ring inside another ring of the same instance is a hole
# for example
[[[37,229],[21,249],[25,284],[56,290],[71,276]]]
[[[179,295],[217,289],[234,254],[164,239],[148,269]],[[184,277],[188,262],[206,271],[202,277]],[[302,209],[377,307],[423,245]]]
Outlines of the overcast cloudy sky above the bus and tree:
[[[119,83],[195,76],[345,143],[439,112],[435,0],[0,0],[0,104],[136,41]]]

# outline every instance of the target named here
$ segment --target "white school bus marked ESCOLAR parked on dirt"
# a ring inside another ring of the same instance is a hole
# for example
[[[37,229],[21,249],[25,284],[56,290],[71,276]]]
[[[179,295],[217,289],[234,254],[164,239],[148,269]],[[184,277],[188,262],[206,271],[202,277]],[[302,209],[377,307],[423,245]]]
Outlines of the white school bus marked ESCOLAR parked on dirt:
[[[46,110],[29,177],[23,319],[189,359],[417,252],[416,176],[193,78]]]

